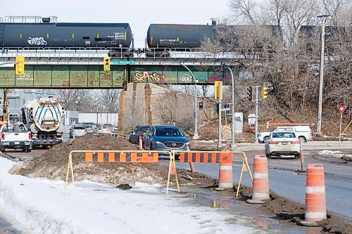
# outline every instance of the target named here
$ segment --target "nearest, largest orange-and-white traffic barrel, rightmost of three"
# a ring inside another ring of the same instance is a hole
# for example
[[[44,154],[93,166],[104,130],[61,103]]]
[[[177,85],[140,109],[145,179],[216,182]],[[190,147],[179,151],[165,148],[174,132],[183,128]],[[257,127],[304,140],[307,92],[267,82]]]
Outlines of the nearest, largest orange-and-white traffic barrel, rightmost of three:
[[[306,177],[306,221],[327,219],[325,180],[322,164],[308,164]]]

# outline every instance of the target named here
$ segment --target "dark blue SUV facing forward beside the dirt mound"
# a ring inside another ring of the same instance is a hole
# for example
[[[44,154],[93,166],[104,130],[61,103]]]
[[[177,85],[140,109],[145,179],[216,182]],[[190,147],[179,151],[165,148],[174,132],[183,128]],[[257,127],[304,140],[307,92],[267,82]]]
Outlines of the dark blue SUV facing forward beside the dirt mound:
[[[144,134],[142,146],[145,150],[187,150],[191,145],[184,134],[177,126],[153,125]]]

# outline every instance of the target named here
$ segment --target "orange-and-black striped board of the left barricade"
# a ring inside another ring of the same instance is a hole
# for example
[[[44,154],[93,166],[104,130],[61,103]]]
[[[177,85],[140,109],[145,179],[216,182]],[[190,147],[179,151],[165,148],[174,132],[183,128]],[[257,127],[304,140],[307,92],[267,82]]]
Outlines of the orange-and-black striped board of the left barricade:
[[[85,162],[158,162],[158,152],[85,152]]]

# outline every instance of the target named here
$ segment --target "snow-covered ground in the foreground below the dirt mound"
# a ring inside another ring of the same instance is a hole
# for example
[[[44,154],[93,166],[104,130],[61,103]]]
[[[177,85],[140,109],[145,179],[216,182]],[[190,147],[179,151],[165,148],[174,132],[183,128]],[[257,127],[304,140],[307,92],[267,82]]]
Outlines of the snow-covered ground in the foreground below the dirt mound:
[[[265,233],[239,214],[197,207],[175,190],[165,195],[163,186],[65,186],[8,174],[13,164],[0,157],[0,215],[23,233]]]

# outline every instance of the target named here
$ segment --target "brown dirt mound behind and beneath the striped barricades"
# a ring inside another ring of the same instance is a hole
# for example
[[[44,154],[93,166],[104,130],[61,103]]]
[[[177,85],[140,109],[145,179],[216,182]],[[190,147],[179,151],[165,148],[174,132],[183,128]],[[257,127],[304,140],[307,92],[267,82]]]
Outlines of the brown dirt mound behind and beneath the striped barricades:
[[[68,166],[68,155],[72,150],[139,150],[137,145],[125,138],[108,135],[86,135],[55,145],[40,157],[26,160],[11,169],[11,173],[27,177],[40,177],[65,180]],[[89,179],[111,186],[120,184],[161,183],[168,181],[168,167],[159,163],[87,163],[84,153],[74,153],[73,171],[75,181]],[[215,179],[203,174],[191,173],[187,170],[177,170],[180,184],[194,186],[213,184]],[[172,176],[172,182],[175,182]]]

